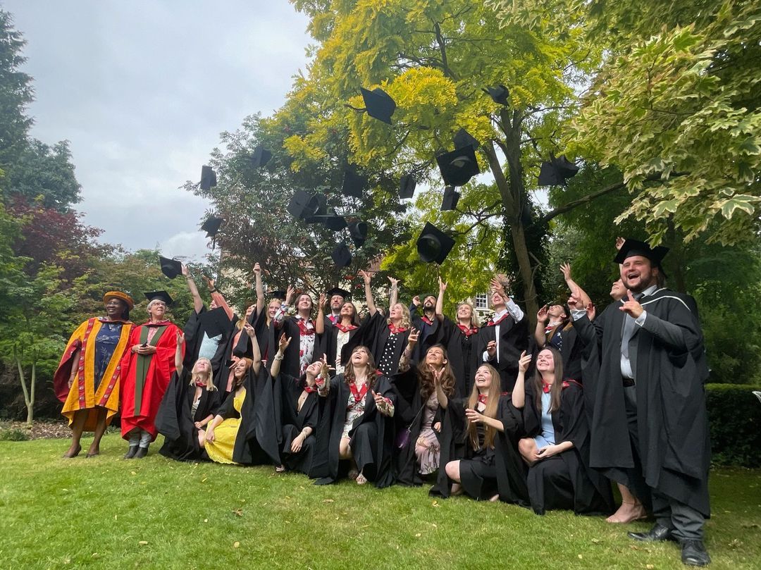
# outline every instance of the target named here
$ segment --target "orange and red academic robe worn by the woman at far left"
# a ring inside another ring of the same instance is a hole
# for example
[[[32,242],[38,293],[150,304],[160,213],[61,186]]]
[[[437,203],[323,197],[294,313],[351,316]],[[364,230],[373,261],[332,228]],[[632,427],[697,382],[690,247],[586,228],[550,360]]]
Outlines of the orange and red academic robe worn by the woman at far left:
[[[119,340],[110,355],[108,363],[103,370],[100,383],[95,385],[96,357],[99,356],[97,336],[103,324],[110,323],[102,318],[85,320],[72,333],[66,343],[66,348],[61,361],[53,374],[53,389],[63,409],[61,413],[68,419],[68,425],[72,425],[76,412],[81,409],[90,410],[84,421],[84,431],[94,431],[97,425],[96,406],[106,409],[106,425],[119,411],[119,381],[122,377],[121,360],[124,352],[129,349],[129,338],[133,323],[118,321],[121,323]],[[81,350],[80,365],[75,374],[72,387],[68,387],[68,379],[72,374],[75,352]],[[104,357],[105,355],[100,355]]]

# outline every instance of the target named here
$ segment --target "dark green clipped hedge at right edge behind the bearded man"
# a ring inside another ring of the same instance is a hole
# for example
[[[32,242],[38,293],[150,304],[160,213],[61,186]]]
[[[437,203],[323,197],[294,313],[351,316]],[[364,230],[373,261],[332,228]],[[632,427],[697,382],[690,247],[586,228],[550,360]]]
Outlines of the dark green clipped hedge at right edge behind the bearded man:
[[[759,387],[742,384],[707,384],[708,422],[712,463],[761,467],[761,402],[753,395]]]

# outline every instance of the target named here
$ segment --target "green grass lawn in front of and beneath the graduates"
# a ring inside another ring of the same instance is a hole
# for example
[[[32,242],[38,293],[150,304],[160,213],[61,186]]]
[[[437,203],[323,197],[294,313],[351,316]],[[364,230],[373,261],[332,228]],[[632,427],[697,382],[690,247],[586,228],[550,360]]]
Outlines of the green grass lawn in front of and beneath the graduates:
[[[158,443],[128,461],[116,434],[91,459],[62,459],[65,440],[0,442],[0,568],[684,568],[677,545],[626,537],[647,522],[318,487],[166,460]],[[761,568],[759,483],[757,470],[712,473],[711,568]]]

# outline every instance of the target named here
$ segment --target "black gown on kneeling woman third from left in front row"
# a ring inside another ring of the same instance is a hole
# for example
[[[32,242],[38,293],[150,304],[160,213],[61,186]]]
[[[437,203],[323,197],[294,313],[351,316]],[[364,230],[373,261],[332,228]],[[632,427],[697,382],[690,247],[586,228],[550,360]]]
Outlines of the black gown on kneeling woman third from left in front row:
[[[299,471],[307,476],[314,476],[312,463],[317,442],[317,421],[319,419],[319,397],[317,392],[310,393],[301,409],[298,409],[298,399],[304,391],[304,382],[299,378],[279,374],[275,378],[275,392],[281,395],[280,425],[282,433],[282,458],[288,470]],[[312,428],[312,433],[304,439],[301,451],[291,453],[293,440],[304,428]]]

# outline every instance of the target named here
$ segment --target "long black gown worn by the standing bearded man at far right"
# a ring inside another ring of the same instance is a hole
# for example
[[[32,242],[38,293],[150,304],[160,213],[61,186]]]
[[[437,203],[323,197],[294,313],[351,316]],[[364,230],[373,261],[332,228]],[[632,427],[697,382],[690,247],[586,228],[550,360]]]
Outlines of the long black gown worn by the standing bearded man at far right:
[[[640,301],[648,312],[635,325],[629,359],[636,383],[637,435],[646,484],[710,516],[708,468],[711,453],[705,410],[705,362],[695,300],[668,289]],[[574,321],[584,342],[596,342],[600,371],[594,393],[590,463],[610,479],[635,488],[635,458],[629,442],[621,381],[621,301],[594,323]]]

